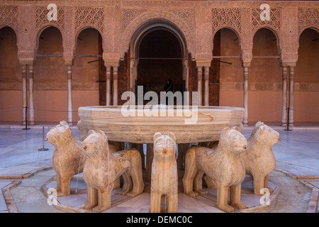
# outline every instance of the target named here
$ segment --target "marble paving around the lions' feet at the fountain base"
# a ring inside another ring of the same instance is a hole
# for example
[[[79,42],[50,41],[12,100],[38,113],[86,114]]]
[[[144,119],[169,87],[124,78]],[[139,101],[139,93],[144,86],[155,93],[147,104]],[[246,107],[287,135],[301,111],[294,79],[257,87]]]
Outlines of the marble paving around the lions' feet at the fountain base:
[[[47,196],[52,195],[48,189],[54,189],[57,187],[55,180],[47,182],[43,185],[43,192],[47,193]],[[270,194],[269,204],[266,204],[259,195],[254,195],[254,186],[251,177],[247,177],[242,184],[242,202],[247,205],[247,209],[235,210],[235,212],[251,212],[254,210],[264,209],[272,204],[272,201],[276,199],[277,194],[280,191],[280,187],[272,182],[269,182],[269,187],[274,189],[274,192]],[[195,198],[187,196],[179,189],[178,201],[179,201],[179,213],[224,213],[220,209],[217,209],[217,192],[216,189],[207,189],[208,194],[204,196],[197,196]],[[103,213],[149,213],[150,212],[150,192],[149,189],[145,189],[145,192],[134,197],[121,196],[118,192],[121,189],[113,189],[112,191],[112,207]],[[121,199],[119,198],[121,197]],[[52,198],[52,196],[51,196]],[[71,194],[69,196],[57,197],[56,209],[62,209],[71,212],[91,212],[91,210],[81,209],[81,206],[86,203],[86,184],[82,177],[74,177],[71,181]],[[229,198],[228,198],[229,199]],[[116,203],[116,204],[115,204]],[[165,204],[162,204],[165,206]]]

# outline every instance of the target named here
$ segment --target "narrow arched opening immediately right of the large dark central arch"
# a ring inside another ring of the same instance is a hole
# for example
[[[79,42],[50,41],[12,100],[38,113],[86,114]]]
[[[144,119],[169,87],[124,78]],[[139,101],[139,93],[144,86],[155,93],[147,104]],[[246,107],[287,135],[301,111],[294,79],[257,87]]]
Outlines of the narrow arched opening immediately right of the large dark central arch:
[[[210,105],[242,107],[240,38],[233,29],[221,28],[214,35],[210,80]]]

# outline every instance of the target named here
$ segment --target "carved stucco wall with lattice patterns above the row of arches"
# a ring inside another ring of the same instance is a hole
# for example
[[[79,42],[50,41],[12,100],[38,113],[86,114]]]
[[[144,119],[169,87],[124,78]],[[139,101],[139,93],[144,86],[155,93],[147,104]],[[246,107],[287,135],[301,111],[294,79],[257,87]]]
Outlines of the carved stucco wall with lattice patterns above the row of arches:
[[[135,1],[135,4],[129,1],[59,1],[57,21],[47,21],[49,10],[47,10],[46,3],[43,2],[43,6],[34,6],[28,1],[3,1],[4,5],[0,6],[0,27],[10,26],[16,31],[18,42],[21,42],[18,43],[18,49],[20,52],[21,50],[24,52],[21,56],[31,55],[33,50],[30,45],[27,45],[30,43],[30,36],[33,36],[31,43],[35,43],[34,49],[36,49],[39,32],[47,26],[55,26],[61,31],[65,51],[68,52],[65,56],[72,55],[71,50],[74,50],[77,40],[75,36],[84,28],[92,27],[96,28],[103,37],[104,52],[113,53],[112,56],[118,58],[123,57],[128,51],[130,40],[135,31],[147,21],[158,18],[167,20],[179,28],[186,39],[187,48],[193,56],[196,56],[196,51],[198,53],[209,52],[208,50],[213,48],[213,45],[206,45],[208,42],[206,40],[212,40],[213,35],[220,28],[231,28],[237,33],[244,58],[250,57],[250,49],[252,48],[250,43],[252,43],[254,33],[260,28],[272,30],[278,38],[279,50],[283,45],[284,51],[286,51],[291,45],[291,43],[286,45],[286,40],[283,40],[282,37],[285,32],[282,31],[283,26],[285,26],[283,20],[287,20],[287,18],[283,18],[285,16],[283,10],[286,7],[296,8],[298,11],[298,15],[294,16],[296,18],[293,18],[292,21],[292,23],[296,23],[298,20],[296,25],[298,26],[298,34],[292,33],[290,35],[300,35],[306,28],[319,29],[318,6],[313,2],[271,1],[269,2],[271,6],[270,21],[260,20],[259,15],[262,10],[259,9],[259,2],[255,1],[245,3],[235,1],[222,3],[215,1]],[[30,13],[30,9],[33,9],[33,13]],[[203,10],[201,11],[201,9]],[[207,10],[211,11],[211,15],[202,15]],[[21,15],[19,15],[19,11],[21,11]],[[249,19],[247,13],[250,13]],[[203,32],[200,30],[201,23],[204,26],[204,22],[207,21],[205,17],[211,20],[211,35],[196,35],[196,33]],[[111,28],[108,23],[112,23],[116,28]],[[67,28],[65,28],[66,26]],[[28,28],[28,31],[23,32],[23,28]],[[69,37],[70,35],[72,38]],[[21,37],[23,40],[20,40]],[[202,44],[198,45],[198,43]],[[203,50],[205,45],[207,50]],[[292,49],[287,50],[287,52],[291,51]],[[296,50],[293,51],[296,52]],[[209,55],[206,56],[209,57]]]

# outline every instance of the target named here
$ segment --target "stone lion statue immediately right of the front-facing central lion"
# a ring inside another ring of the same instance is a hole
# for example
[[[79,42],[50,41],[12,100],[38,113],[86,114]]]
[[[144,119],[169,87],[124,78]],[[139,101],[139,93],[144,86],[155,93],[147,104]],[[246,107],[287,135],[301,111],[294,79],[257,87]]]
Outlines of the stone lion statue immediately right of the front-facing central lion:
[[[246,149],[245,136],[229,127],[221,132],[216,150],[201,146],[189,148],[185,157],[184,193],[189,196],[206,194],[201,184],[203,174],[206,174],[216,184],[218,209],[225,212],[234,211],[233,207],[245,209],[247,206],[240,202],[240,187],[245,179],[245,166],[240,156]]]

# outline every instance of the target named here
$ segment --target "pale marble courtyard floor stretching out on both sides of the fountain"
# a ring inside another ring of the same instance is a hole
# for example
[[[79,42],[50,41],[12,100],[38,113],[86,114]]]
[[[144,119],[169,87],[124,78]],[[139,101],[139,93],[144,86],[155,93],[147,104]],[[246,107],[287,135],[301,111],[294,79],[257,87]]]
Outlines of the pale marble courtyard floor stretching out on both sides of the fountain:
[[[52,126],[45,126],[44,135]],[[47,196],[41,191],[41,187],[55,176],[51,163],[54,146],[44,143],[45,148],[49,150],[38,150],[43,147],[43,128],[40,124],[30,130],[21,128],[22,126],[18,124],[11,128],[0,127],[0,212],[67,212],[48,205]],[[318,212],[319,130],[307,130],[307,127],[293,131],[284,131],[276,127],[274,129],[280,133],[280,141],[273,147],[276,170],[269,175],[269,180],[281,190],[271,206],[253,212]],[[246,127],[243,135],[248,138],[251,131],[252,126]],[[72,132],[76,138],[79,138],[76,126],[72,127]],[[74,184],[82,183],[77,181]],[[141,196],[144,197],[149,199],[149,196]],[[186,200],[187,198],[184,201]],[[125,203],[128,204],[127,207]],[[113,208],[113,211],[148,211],[148,209],[130,209],[132,203],[132,201],[124,202],[121,206]],[[194,213],[218,211],[207,206],[201,207],[200,201],[184,209],[184,212]]]

